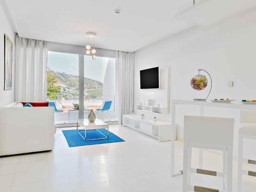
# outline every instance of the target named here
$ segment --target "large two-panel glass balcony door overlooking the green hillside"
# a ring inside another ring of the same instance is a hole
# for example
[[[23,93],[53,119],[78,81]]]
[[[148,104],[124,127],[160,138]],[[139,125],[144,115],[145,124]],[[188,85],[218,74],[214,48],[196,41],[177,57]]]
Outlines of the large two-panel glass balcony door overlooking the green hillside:
[[[55,121],[72,121],[78,119],[79,111],[87,118],[91,109],[97,118],[116,121],[115,113],[115,58],[84,55],[84,62],[79,63],[78,54],[48,52],[47,95],[48,100],[56,106]],[[79,65],[83,65],[84,80],[79,84]],[[84,88],[79,93],[79,87]],[[84,109],[79,110],[79,98],[83,100]],[[111,109],[97,111],[106,100],[111,100]]]

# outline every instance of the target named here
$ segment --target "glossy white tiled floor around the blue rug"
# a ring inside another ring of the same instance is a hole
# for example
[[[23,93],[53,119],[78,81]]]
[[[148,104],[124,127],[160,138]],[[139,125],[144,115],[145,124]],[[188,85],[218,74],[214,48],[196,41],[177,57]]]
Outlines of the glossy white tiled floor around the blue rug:
[[[72,129],[72,128],[69,128]],[[142,133],[111,125],[125,142],[68,147],[58,129],[52,152],[0,158],[0,191],[179,192],[182,176],[170,177],[170,142],[158,142]],[[176,163],[182,165],[182,142]],[[193,150],[197,167],[198,151]],[[204,151],[204,168],[221,170],[222,157]],[[234,161],[233,191],[237,191]],[[250,167],[250,169],[255,167]],[[194,184],[221,188],[216,178],[193,176]],[[255,178],[243,178],[243,191],[256,191]]]

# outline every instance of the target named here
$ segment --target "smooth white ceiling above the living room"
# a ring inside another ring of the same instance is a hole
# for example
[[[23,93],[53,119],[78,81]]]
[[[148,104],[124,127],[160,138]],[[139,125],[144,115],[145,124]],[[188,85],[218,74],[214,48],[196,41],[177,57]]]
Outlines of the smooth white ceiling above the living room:
[[[215,22],[256,6],[255,0],[196,0],[196,7],[190,7],[192,2],[6,0],[21,37],[86,46],[86,32],[93,31],[95,47],[130,52],[200,25],[202,20],[207,23],[208,17]],[[121,10],[119,15],[115,9]]]

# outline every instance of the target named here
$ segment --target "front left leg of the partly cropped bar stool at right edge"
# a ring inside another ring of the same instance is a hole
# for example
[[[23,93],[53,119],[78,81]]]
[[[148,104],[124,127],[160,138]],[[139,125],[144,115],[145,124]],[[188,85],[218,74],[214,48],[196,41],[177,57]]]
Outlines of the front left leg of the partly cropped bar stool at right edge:
[[[239,144],[238,144],[238,192],[241,192],[242,185],[242,169],[243,169],[243,146],[244,136],[239,134]]]

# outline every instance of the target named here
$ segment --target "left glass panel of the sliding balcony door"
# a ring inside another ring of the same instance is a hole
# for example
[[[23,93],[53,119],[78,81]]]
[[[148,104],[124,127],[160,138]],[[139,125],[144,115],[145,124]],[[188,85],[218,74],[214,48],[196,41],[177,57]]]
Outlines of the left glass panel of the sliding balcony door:
[[[55,108],[55,121],[79,117],[79,55],[48,52],[47,96]]]

